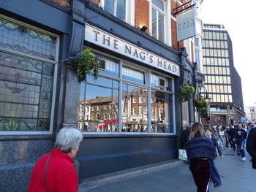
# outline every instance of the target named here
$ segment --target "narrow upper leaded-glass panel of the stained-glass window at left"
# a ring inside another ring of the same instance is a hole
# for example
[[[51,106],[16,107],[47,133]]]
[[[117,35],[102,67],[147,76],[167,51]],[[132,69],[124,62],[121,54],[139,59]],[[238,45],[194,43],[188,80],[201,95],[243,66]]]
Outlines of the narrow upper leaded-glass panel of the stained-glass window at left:
[[[55,61],[56,45],[56,37],[0,18],[0,47]]]

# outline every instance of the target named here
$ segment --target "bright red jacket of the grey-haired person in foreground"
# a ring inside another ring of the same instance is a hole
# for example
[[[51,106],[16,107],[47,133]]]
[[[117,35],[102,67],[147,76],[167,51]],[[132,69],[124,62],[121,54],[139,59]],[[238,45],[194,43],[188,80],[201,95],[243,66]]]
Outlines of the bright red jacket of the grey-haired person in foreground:
[[[27,192],[46,192],[44,167],[49,154],[50,153],[43,155],[34,165]],[[72,160],[67,153],[63,153],[60,150],[53,148],[46,170],[48,191],[78,191],[78,176],[72,165],[73,163],[75,163],[75,161]]]

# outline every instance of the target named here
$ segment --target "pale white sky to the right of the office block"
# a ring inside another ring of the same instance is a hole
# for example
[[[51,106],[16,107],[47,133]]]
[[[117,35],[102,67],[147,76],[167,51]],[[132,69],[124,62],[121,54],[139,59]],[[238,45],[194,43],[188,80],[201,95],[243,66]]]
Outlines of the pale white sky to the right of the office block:
[[[241,77],[244,107],[256,106],[256,0],[203,0],[203,23],[223,24],[233,45],[234,65]]]

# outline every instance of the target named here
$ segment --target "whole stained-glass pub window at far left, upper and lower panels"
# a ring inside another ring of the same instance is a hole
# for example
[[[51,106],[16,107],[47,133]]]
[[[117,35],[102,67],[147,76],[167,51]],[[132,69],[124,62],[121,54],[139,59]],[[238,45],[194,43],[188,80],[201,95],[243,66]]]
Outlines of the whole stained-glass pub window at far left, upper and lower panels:
[[[55,35],[0,15],[2,133],[50,131],[57,40]]]

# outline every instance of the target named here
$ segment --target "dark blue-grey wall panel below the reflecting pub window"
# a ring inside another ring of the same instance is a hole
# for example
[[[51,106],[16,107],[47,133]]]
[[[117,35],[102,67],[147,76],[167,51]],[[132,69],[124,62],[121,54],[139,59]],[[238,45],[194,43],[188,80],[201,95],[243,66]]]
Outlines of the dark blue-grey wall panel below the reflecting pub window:
[[[176,149],[173,136],[86,136],[77,155],[79,178],[167,161],[178,157]]]

